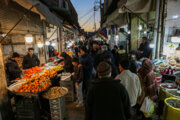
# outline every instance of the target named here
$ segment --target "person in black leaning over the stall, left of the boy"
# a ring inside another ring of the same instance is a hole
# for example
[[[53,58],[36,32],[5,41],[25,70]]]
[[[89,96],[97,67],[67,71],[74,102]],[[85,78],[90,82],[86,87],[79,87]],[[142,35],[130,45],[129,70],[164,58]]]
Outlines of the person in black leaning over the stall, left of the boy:
[[[61,53],[60,56],[64,60],[64,70],[65,70],[65,72],[72,73],[74,70],[73,70],[71,57],[65,52]]]

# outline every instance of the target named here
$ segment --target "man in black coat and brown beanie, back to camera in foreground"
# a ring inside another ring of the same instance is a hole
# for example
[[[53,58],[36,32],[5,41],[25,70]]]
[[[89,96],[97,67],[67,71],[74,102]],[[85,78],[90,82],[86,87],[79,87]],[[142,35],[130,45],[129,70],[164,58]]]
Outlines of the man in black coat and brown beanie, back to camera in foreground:
[[[101,62],[97,68],[98,80],[88,91],[85,120],[128,120],[129,96],[118,80],[111,78],[111,66]]]

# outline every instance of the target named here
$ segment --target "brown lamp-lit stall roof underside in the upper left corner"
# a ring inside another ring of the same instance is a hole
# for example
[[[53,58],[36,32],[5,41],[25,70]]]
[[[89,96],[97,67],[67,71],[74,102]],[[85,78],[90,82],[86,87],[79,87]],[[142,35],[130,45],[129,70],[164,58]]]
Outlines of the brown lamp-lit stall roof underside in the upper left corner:
[[[0,3],[0,8],[0,32],[3,33],[7,33],[27,11],[15,2],[10,2],[8,6]],[[42,21],[33,12],[29,12],[11,34],[26,34],[28,30],[32,34],[43,34]]]

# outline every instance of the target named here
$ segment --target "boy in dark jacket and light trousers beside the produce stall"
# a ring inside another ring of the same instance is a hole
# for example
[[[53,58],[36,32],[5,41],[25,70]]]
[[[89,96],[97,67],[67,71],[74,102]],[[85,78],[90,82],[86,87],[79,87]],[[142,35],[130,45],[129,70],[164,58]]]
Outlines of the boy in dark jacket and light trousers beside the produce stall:
[[[82,107],[83,106],[83,92],[82,92],[83,69],[82,69],[82,67],[79,67],[79,59],[78,58],[73,58],[72,64],[74,66],[73,79],[75,81],[76,94],[77,94],[77,98],[78,98],[78,104],[76,105],[76,107]]]

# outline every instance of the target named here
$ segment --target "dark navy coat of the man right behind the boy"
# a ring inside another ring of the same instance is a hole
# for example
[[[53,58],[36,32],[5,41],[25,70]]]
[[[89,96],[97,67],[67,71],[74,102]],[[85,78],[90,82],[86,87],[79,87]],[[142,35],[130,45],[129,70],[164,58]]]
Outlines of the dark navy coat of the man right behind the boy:
[[[83,67],[84,80],[91,79],[94,65],[93,58],[86,53],[80,57],[80,64],[82,64]]]

